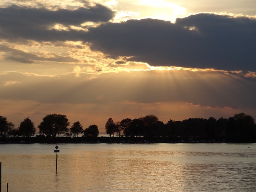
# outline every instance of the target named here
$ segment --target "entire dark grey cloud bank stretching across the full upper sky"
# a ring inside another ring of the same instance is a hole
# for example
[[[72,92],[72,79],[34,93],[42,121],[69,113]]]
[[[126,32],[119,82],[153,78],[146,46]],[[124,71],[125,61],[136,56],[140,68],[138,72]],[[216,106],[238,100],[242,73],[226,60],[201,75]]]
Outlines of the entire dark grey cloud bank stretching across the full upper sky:
[[[55,11],[12,5],[0,8],[0,36],[9,41],[82,41],[112,58],[126,56],[151,66],[256,71],[255,18],[204,13],[175,23],[150,18],[108,22],[114,14],[100,4]],[[102,24],[88,28],[84,22]],[[53,28],[56,24],[60,29]]]

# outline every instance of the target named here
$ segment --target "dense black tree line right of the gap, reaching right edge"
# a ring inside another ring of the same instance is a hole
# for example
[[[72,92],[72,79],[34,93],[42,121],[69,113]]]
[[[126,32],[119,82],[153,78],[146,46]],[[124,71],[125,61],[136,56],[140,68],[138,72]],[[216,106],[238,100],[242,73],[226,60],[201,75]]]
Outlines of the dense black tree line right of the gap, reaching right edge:
[[[106,134],[114,136],[171,136],[227,138],[236,142],[256,142],[256,124],[254,118],[244,113],[229,118],[210,117],[189,118],[183,121],[169,120],[166,124],[157,116],[147,115],[140,118],[126,118],[114,122],[109,118],[105,125]]]

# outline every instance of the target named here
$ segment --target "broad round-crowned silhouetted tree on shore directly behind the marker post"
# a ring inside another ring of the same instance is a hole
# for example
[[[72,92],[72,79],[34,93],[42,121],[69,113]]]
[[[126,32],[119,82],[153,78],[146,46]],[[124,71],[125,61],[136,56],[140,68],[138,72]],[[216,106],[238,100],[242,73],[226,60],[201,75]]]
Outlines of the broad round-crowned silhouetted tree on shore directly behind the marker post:
[[[38,125],[39,133],[56,137],[57,134],[68,132],[68,118],[61,114],[48,114],[43,118],[43,121]]]

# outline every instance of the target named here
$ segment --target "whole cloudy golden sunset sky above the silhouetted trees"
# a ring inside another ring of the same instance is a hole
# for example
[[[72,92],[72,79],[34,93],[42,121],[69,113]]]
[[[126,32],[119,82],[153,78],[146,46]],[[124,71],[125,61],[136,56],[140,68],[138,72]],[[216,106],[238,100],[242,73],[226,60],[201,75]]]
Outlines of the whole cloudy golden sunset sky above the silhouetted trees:
[[[2,0],[0,115],[256,119],[255,0]]]

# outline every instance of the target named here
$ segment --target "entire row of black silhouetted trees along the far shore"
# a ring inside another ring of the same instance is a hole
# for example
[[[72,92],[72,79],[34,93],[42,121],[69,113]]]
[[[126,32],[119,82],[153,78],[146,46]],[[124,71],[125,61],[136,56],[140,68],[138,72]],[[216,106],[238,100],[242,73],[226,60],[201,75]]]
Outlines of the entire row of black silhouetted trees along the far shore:
[[[85,130],[79,121],[74,122],[70,128],[70,122],[66,115],[48,114],[38,125],[40,137],[97,137],[99,135],[98,126],[90,125]],[[25,118],[18,128],[7,118],[0,116],[0,137],[26,137],[34,136],[36,127],[30,118]],[[114,122],[109,118],[105,124],[105,132],[110,137],[124,136],[169,136],[169,137],[224,137],[236,142],[256,142],[256,124],[254,118],[244,113],[234,114],[229,118],[219,118],[218,120],[210,117],[189,118],[183,121],[169,120],[166,124],[155,115],[146,115],[140,118],[125,118]]]

